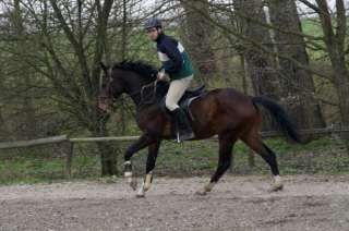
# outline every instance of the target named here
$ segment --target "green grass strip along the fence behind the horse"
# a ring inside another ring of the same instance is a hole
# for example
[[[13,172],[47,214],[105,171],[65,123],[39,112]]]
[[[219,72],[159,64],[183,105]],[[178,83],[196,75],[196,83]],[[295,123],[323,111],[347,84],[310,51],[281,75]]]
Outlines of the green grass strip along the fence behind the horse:
[[[306,145],[291,145],[280,138],[265,142],[276,154],[281,174],[341,174],[349,173],[349,156],[340,142],[318,138]],[[122,144],[124,149],[129,144]],[[209,175],[217,165],[217,142],[193,142],[177,145],[165,142],[160,148],[156,174],[169,177]],[[48,149],[48,148],[46,148]],[[41,154],[40,154],[41,151]],[[0,184],[51,183],[64,181],[64,155],[49,154],[47,150],[28,149],[21,154],[0,156]],[[43,154],[45,153],[45,154]],[[77,149],[73,159],[74,180],[98,179],[100,162],[94,150]],[[233,174],[269,174],[267,165],[255,156],[255,167],[250,168],[249,148],[242,143],[234,146]],[[122,155],[118,158],[122,170]],[[146,150],[133,157],[135,174],[142,177],[145,169]]]

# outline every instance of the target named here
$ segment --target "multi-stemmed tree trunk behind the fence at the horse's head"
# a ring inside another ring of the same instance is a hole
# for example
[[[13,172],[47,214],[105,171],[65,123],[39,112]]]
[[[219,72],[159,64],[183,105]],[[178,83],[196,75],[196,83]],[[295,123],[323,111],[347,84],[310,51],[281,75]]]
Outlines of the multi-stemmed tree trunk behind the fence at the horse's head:
[[[69,40],[76,65],[79,66],[79,74],[76,75],[79,80],[76,82],[82,83],[81,86],[76,86],[77,90],[70,90],[71,86],[69,86],[68,92],[60,93],[62,95],[71,95],[71,92],[75,95],[74,97],[77,98],[79,105],[76,106],[75,102],[72,102],[71,110],[74,112],[73,114],[76,115],[76,120],[84,124],[92,135],[94,136],[106,136],[108,134],[106,122],[109,117],[104,118],[98,112],[97,108],[97,96],[99,92],[99,82],[100,82],[100,61],[103,60],[103,57],[105,54],[106,50],[106,41],[107,41],[107,28],[108,28],[108,19],[110,15],[110,10],[113,4],[113,0],[105,0],[105,1],[95,1],[96,5],[96,12],[89,12],[91,15],[93,13],[96,14],[96,25],[95,25],[95,49],[94,49],[94,56],[93,58],[88,57],[87,53],[89,53],[88,46],[86,47],[86,42],[89,41],[85,40],[88,36],[84,37],[84,33],[87,31],[88,26],[83,24],[83,22],[79,22],[77,32],[72,31],[71,25],[69,25],[69,20],[67,20],[62,11],[60,9],[60,5],[55,0],[49,0],[51,3],[51,7],[55,11],[55,16],[60,23],[61,29],[63,31],[67,39]],[[83,19],[82,14],[82,4],[83,1],[79,1],[79,15],[77,19],[81,21]],[[75,15],[74,15],[75,16]],[[45,33],[45,32],[44,32]],[[77,36],[76,36],[77,34]],[[46,32],[46,36],[49,36]],[[50,38],[47,38],[48,40]],[[58,71],[63,77],[71,77],[70,70],[65,69],[62,65],[62,61],[55,52],[53,47],[51,47],[51,44],[46,45],[46,48],[48,49],[49,53],[51,54],[52,60],[55,61],[55,64],[58,68]],[[62,89],[67,90],[67,89]],[[69,100],[72,100],[69,98]],[[100,153],[100,161],[101,161],[101,174],[103,175],[112,175],[117,174],[117,158],[116,155],[112,153],[112,148],[107,144],[97,144],[98,150]]]

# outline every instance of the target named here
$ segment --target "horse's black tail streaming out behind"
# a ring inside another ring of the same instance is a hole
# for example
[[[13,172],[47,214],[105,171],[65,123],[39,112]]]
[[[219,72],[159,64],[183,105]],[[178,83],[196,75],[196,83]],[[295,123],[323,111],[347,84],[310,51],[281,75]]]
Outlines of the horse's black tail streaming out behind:
[[[253,97],[252,102],[255,107],[256,105],[262,105],[264,108],[266,108],[272,113],[273,118],[276,120],[276,122],[279,124],[280,129],[287,136],[289,136],[294,142],[302,142],[294,123],[288,117],[288,114],[280,105],[278,105],[276,101],[272,99],[261,96]]]

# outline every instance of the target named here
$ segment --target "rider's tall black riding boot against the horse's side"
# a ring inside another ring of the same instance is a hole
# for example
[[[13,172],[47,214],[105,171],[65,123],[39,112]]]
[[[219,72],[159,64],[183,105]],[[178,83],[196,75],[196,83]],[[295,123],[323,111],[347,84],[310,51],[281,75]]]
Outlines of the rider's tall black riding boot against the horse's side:
[[[189,123],[185,112],[181,108],[177,108],[172,111],[176,126],[177,126],[177,142],[186,141],[194,137],[193,130]]]

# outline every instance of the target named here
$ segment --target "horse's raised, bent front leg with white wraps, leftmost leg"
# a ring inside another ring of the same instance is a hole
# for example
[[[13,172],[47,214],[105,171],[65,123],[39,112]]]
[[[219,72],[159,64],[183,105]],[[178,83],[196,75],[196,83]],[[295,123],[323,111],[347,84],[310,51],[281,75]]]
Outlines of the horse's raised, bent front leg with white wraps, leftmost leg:
[[[147,133],[143,134],[134,144],[132,144],[124,154],[124,177],[133,190],[136,190],[136,181],[132,178],[132,156],[139,150],[153,144],[155,139]]]

